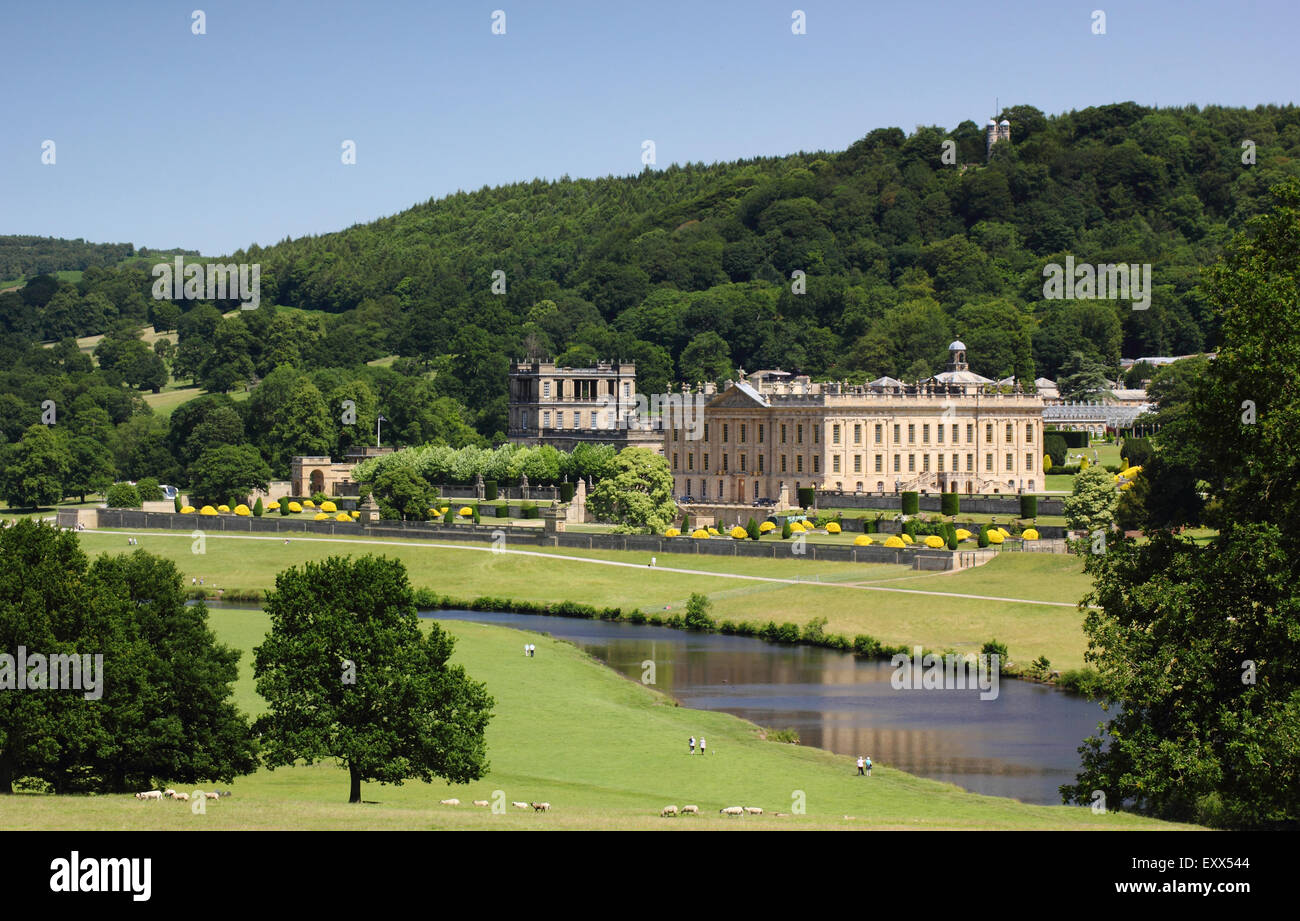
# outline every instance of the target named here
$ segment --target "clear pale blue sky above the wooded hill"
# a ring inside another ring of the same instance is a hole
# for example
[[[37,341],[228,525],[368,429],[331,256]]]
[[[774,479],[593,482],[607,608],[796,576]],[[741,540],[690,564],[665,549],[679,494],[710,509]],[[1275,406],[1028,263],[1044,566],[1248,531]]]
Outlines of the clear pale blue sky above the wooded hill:
[[[6,0],[0,233],[200,250],[897,125],[1296,100],[1296,0]],[[207,34],[191,31],[192,10]],[[494,35],[494,10],[506,34]],[[792,12],[806,34],[792,33]],[[1093,34],[1093,10],[1105,34]],[[56,163],[42,164],[55,142]],[[343,165],[342,143],[356,143]]]

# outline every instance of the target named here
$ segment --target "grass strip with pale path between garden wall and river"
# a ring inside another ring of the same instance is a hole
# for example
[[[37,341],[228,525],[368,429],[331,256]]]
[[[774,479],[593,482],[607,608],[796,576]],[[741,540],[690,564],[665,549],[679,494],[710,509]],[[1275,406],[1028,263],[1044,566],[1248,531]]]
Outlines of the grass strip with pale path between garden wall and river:
[[[294,536],[285,544],[283,537],[209,533],[198,554],[190,532],[130,533],[140,535],[140,548],[176,561],[187,578],[228,592],[272,588],[277,572],[306,559],[376,553],[402,559],[415,587],[458,598],[662,611],[680,610],[693,592],[701,592],[712,598],[718,619],[805,624],[826,617],[829,632],[870,634],[884,643],[939,650],[978,652],[985,640],[997,639],[1008,644],[1014,661],[1046,656],[1057,669],[1082,666],[1086,649],[1074,605],[1087,591],[1087,578],[1074,557],[1057,554],[1004,553],[974,570],[931,574],[896,565],[697,554],[659,554],[651,568],[640,552],[491,553],[484,544],[325,536]],[[91,555],[126,550],[126,532],[86,531],[81,541]]]

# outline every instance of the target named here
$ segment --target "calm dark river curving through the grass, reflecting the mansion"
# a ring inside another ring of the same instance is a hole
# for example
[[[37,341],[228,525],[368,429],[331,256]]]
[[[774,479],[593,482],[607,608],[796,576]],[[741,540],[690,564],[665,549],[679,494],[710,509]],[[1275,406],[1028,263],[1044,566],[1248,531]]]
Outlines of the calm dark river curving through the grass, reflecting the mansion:
[[[805,745],[1026,803],[1061,801],[1080,741],[1105,717],[1096,704],[1027,682],[1004,680],[988,701],[978,689],[896,691],[888,662],[751,637],[528,614],[432,617],[549,632],[637,680],[653,660],[656,686],[685,706],[794,728]]]

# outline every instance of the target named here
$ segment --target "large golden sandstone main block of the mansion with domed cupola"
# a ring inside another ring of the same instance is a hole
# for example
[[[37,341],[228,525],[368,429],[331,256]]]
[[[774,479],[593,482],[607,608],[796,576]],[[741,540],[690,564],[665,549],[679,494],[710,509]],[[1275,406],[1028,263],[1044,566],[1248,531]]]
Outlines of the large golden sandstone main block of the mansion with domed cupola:
[[[919,384],[814,384],[760,371],[715,392],[702,437],[662,432],[677,496],[750,503],[841,492],[1041,489],[1043,398],[974,373],[966,346]]]

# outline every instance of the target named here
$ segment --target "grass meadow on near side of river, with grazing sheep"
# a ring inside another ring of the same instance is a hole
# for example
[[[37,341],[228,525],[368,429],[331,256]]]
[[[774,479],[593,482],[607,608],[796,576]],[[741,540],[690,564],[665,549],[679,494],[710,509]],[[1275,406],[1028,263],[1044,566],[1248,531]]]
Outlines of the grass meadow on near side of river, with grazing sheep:
[[[251,649],[266,630],[261,611],[209,617],[217,637],[244,650],[235,699],[263,709],[252,684]],[[676,706],[629,682],[576,647],[529,635],[537,657],[520,654],[519,631],[447,623],[454,661],[495,699],[488,727],[489,773],[476,783],[365,784],[348,805],[347,774],[332,764],[259,770],[212,784],[233,796],[194,814],[182,803],[142,803],[130,795],[0,797],[4,829],[1176,829],[1124,813],[1026,805],[979,796],[876,765],[858,778],[849,758],[760,738],[758,727],[723,713]],[[708,754],[685,752],[688,736],[708,739]],[[162,779],[166,782],[165,779]],[[188,790],[190,786],[177,786]],[[802,794],[806,814],[793,813]],[[463,805],[442,807],[458,797]],[[502,814],[469,805],[503,800]],[[511,808],[547,801],[551,812]],[[699,807],[698,817],[660,818],[667,804]],[[767,814],[718,814],[731,805]]]

